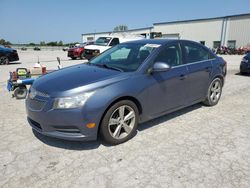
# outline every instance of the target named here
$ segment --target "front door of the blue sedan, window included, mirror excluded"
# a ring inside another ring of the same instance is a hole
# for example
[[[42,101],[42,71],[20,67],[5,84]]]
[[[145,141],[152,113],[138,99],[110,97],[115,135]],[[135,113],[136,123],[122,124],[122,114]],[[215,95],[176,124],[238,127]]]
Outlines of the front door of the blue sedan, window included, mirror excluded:
[[[154,60],[171,66],[165,72],[148,75],[146,114],[150,118],[181,107],[185,102],[186,76],[188,70],[182,64],[182,52],[179,42],[162,48]]]

